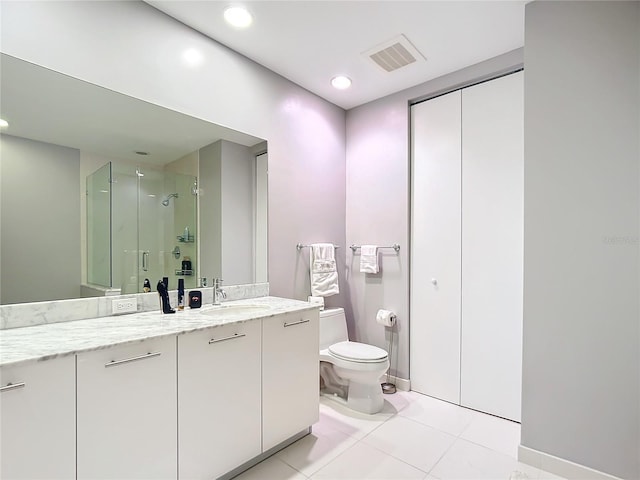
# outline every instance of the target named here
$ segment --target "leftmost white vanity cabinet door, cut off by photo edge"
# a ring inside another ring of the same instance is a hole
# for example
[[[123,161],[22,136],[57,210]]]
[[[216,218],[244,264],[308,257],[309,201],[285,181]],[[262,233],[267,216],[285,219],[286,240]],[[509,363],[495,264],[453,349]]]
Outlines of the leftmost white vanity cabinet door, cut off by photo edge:
[[[0,478],[75,478],[75,357],[0,368]]]

